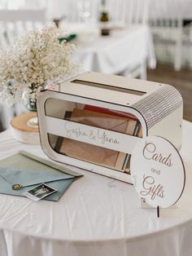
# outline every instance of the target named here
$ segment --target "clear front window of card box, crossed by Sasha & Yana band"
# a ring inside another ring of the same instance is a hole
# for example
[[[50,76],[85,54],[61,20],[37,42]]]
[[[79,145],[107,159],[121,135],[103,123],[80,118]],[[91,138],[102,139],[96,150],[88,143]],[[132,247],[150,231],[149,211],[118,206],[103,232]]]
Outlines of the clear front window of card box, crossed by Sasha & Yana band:
[[[49,105],[59,105],[59,110],[55,111],[56,108],[49,108]],[[126,150],[121,151],[118,143],[124,141],[123,138],[142,137],[142,126],[137,117],[113,109],[54,98],[46,100],[45,109],[49,127],[51,123],[60,126],[59,133],[48,131],[50,147],[55,152],[129,173],[131,155]],[[51,121],[51,118],[56,118],[58,122]]]

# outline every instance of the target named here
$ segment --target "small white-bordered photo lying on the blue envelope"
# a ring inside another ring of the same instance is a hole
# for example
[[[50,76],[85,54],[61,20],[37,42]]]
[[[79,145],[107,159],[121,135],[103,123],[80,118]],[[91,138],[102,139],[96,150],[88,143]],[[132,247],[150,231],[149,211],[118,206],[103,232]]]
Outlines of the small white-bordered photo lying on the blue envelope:
[[[46,185],[45,183],[41,183],[37,187],[24,192],[24,196],[27,196],[29,199],[33,201],[39,201],[46,196],[50,196],[57,192],[55,188],[51,188],[50,186]]]

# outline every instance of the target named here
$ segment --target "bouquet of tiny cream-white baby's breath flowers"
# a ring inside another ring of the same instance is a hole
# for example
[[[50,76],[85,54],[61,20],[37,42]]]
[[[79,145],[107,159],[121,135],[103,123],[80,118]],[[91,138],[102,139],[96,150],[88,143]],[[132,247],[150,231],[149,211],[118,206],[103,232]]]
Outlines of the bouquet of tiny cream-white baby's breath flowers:
[[[50,80],[72,75],[74,46],[59,42],[63,31],[55,25],[24,33],[10,50],[0,54],[0,100],[8,105],[35,105],[37,94]]]

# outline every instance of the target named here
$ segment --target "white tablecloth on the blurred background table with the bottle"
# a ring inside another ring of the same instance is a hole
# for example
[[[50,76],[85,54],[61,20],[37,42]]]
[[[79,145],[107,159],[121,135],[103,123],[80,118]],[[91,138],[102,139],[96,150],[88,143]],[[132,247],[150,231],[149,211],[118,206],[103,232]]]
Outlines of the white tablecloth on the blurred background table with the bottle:
[[[150,68],[156,66],[151,31],[146,25],[112,30],[108,37],[101,37],[94,27],[92,30],[71,27],[71,31],[79,33],[76,58],[85,70],[120,73],[126,68],[137,68],[146,61]]]

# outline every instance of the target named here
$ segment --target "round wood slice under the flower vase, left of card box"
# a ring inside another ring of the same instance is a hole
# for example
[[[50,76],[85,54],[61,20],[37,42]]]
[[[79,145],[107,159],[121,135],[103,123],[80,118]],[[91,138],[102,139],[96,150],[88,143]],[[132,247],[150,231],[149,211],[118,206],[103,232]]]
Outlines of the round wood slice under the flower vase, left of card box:
[[[39,129],[38,127],[28,126],[28,120],[37,117],[36,112],[29,112],[23,115],[14,117],[11,120],[11,135],[14,139],[22,143],[39,144]]]

